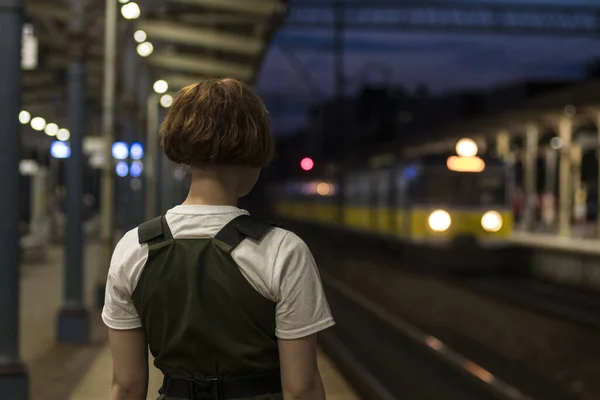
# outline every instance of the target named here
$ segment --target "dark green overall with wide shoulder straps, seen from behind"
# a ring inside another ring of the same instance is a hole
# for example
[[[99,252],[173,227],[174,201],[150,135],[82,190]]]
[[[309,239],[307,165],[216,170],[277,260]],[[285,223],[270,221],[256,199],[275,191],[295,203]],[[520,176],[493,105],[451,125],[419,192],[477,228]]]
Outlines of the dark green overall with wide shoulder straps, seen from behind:
[[[174,239],[164,217],[140,225],[149,254],[132,297],[165,376],[159,399],[282,399],[275,303],[231,256],[272,227],[243,215],[214,238]]]

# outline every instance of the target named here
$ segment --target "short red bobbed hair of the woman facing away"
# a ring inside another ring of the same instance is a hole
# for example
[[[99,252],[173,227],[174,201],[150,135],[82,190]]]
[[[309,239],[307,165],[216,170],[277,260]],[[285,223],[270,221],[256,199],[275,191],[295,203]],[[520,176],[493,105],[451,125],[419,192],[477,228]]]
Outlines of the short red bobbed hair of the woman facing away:
[[[161,131],[167,157],[189,166],[263,167],[273,159],[265,104],[235,79],[208,79],[176,95]]]

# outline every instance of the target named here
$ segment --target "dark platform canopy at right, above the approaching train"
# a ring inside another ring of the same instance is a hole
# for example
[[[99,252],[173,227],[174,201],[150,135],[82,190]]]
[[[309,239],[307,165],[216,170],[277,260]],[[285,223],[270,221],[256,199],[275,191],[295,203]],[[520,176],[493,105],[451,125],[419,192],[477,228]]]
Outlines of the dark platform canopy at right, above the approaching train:
[[[448,104],[464,102],[465,98],[441,97],[434,114],[424,114],[420,119],[416,116],[400,128],[404,135],[399,135],[392,146],[381,146],[376,153],[388,153],[390,148],[407,155],[441,152],[454,148],[456,141],[465,136],[492,139],[501,131],[522,136],[529,124],[538,125],[542,131],[556,130],[558,119],[570,114],[576,127],[588,126],[599,118],[598,90],[599,78],[519,83],[507,87],[504,93],[475,94],[467,100],[479,104],[479,109],[470,113],[445,113]]]

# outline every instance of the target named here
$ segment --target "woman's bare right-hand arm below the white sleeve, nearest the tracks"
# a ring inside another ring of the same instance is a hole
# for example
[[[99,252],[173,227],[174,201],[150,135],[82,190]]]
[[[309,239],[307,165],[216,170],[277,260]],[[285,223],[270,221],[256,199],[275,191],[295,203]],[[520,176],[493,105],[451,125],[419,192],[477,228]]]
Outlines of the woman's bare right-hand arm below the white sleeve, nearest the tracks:
[[[317,365],[317,335],[279,339],[281,383],[284,400],[325,400]]]

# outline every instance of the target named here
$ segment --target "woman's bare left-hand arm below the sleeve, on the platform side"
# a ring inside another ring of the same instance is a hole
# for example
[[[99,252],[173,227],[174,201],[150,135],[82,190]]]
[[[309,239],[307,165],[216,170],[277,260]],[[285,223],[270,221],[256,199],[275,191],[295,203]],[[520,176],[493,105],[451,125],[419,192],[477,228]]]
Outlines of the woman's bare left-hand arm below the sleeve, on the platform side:
[[[108,330],[113,357],[111,400],[146,400],[148,345],[141,329]]]

